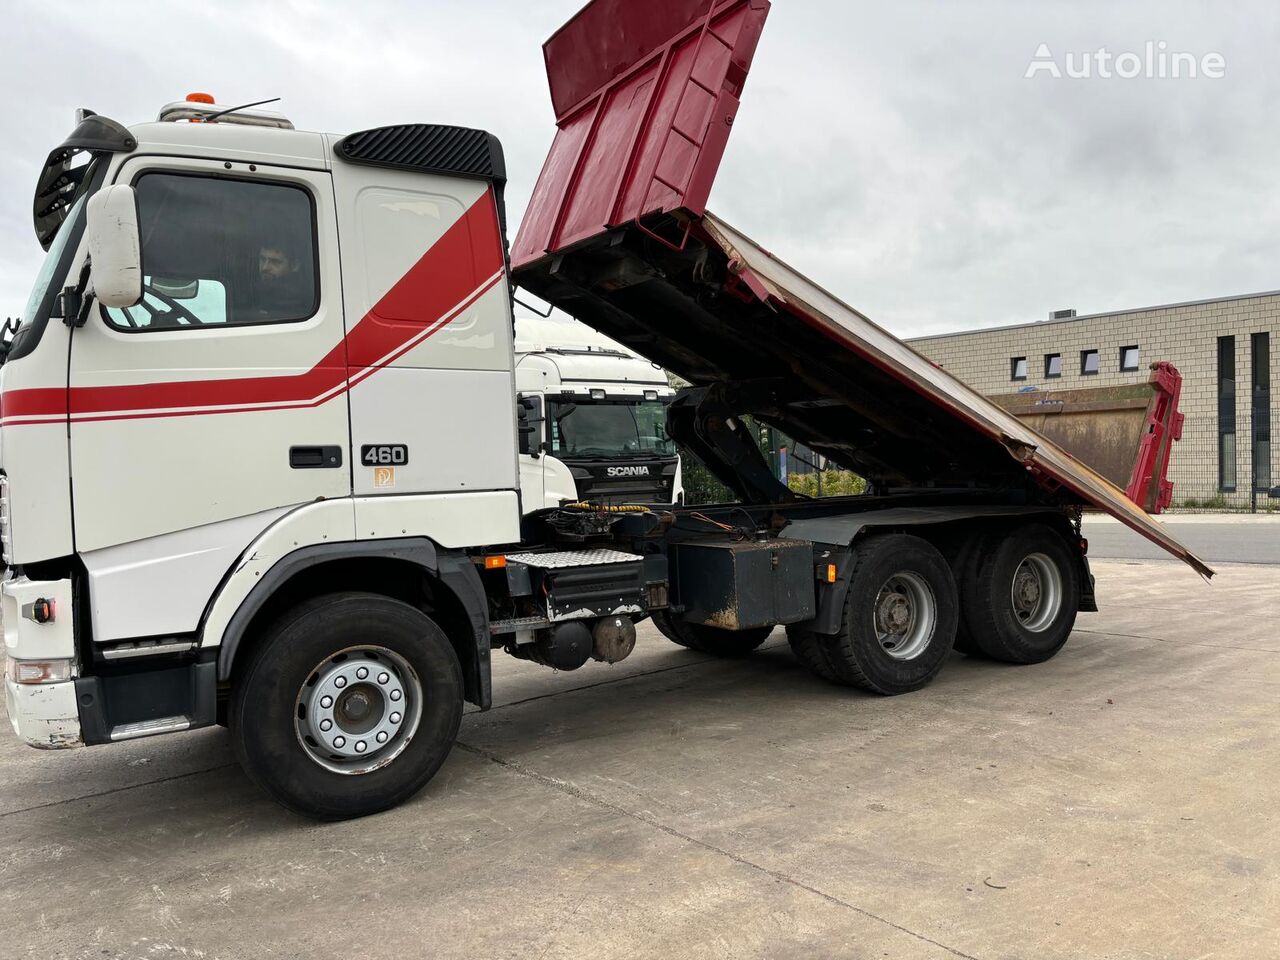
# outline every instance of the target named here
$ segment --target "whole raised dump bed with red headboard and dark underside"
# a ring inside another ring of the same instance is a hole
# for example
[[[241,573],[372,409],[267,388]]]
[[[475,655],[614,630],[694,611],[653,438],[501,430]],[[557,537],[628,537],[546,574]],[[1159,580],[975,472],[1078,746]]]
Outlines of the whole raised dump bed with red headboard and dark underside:
[[[559,133],[520,285],[689,380],[668,429],[748,503],[795,499],[742,442],[750,413],[881,498],[1093,507],[1210,576],[1105,475],[705,210],[768,4],[669,5],[660,37],[598,0],[545,45]]]

